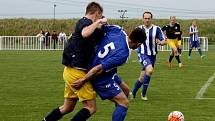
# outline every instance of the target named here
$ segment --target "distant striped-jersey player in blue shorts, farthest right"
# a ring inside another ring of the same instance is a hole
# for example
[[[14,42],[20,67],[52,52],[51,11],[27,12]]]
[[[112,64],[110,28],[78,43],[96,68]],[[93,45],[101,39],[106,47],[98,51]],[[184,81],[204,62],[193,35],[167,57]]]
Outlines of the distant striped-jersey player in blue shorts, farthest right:
[[[198,49],[198,52],[199,52],[199,55],[201,56],[201,58],[204,58],[205,55],[202,55],[200,41],[198,38],[198,28],[196,25],[196,21],[192,22],[192,25],[189,27],[188,32],[190,34],[190,38],[189,38],[190,49],[189,49],[188,59],[191,59],[191,52],[194,47]]]

